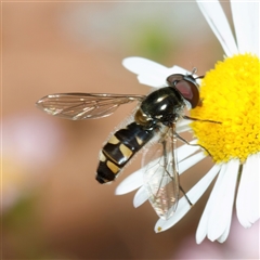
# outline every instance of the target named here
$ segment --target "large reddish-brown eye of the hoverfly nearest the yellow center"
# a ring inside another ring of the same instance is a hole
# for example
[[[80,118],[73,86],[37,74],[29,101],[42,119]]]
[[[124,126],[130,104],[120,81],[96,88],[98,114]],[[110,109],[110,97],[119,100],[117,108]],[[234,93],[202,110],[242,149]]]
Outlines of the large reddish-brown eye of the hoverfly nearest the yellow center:
[[[191,103],[192,108],[196,107],[199,103],[199,92],[196,84],[187,80],[181,80],[176,83],[176,88],[182,96]]]

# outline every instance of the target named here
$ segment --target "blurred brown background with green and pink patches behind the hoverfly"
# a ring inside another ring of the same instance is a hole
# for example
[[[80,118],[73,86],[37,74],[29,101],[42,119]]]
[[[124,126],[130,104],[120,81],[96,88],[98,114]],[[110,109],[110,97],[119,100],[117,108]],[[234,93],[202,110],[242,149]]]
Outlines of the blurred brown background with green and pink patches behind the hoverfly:
[[[35,107],[58,92],[145,94],[122,58],[143,56],[203,75],[223,51],[195,1],[2,2],[2,259],[258,259],[259,225],[236,221],[220,245],[195,244],[209,193],[176,226],[154,233],[148,203],[95,180],[98,154],[133,105],[69,121]],[[230,16],[229,3],[223,3]],[[139,156],[140,157],[140,156]],[[183,174],[187,190],[210,160]]]

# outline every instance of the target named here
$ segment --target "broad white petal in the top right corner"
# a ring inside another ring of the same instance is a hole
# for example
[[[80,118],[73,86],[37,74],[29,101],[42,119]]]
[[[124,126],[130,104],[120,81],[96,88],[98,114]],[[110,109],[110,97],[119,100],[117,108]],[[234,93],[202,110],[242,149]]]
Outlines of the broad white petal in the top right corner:
[[[239,52],[259,56],[259,2],[231,0],[231,8]]]

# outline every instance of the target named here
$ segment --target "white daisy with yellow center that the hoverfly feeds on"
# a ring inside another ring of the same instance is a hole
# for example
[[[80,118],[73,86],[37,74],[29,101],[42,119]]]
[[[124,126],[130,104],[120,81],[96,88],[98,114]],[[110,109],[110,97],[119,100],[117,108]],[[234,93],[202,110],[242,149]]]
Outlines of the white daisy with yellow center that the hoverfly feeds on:
[[[230,232],[233,205],[244,227],[249,227],[259,217],[260,173],[260,86],[259,86],[259,2],[231,0],[236,40],[219,1],[200,2],[199,9],[220,41],[225,53],[213,69],[206,73],[200,84],[203,105],[191,110],[191,116],[212,119],[221,123],[182,120],[177,131],[193,131],[194,141],[211,155],[214,165],[188,192],[195,204],[217,177],[196,232],[196,242],[207,236],[223,243]],[[160,88],[167,76],[185,69],[167,68],[141,57],[123,60],[123,66],[134,74],[141,83]],[[190,123],[190,125],[188,125]],[[196,146],[183,145],[177,150],[179,173],[203,160],[207,155]],[[139,207],[147,200],[143,186],[143,169],[123,180],[116,194],[125,194],[139,187],[133,204]],[[174,214],[159,219],[155,232],[174,225],[191,209],[185,197],[179,200]]]

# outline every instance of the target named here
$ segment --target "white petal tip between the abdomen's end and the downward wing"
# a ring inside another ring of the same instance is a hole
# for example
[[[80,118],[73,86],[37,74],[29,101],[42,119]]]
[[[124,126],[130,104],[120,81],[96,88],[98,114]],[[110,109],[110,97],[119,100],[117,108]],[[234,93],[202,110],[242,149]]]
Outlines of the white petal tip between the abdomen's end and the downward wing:
[[[127,177],[115,191],[116,195],[130,193],[143,185],[143,170],[142,168]]]

